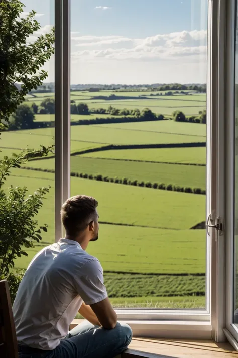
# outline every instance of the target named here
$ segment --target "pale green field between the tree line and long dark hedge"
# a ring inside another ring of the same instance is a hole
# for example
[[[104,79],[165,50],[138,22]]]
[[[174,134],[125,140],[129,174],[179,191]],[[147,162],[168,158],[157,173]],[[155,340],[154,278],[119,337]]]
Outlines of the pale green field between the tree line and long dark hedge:
[[[159,123],[159,122],[158,122]],[[160,122],[162,123],[162,122]],[[173,128],[173,123],[171,128]],[[163,130],[160,133],[155,131],[143,131],[127,128],[128,123],[117,129],[105,125],[80,125],[71,127],[71,150],[77,149],[77,143],[90,142],[96,144],[168,144],[168,143],[192,143],[205,142],[205,137],[202,135],[193,136],[188,134],[169,133]],[[135,123],[137,125],[139,123]],[[176,124],[176,123],[175,123]],[[182,123],[184,125],[189,125]],[[117,125],[117,124],[116,124]],[[196,124],[191,124],[196,126]],[[203,126],[202,124],[197,124]],[[205,127],[205,126],[204,126]],[[136,128],[136,126],[135,126]],[[194,131],[196,128],[194,127]],[[3,132],[1,135],[2,147],[25,148],[36,145],[51,145],[54,143],[54,128],[19,130],[16,132]],[[10,145],[11,144],[11,145]]]

